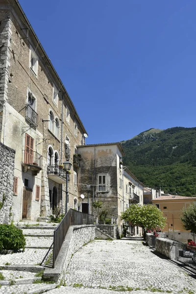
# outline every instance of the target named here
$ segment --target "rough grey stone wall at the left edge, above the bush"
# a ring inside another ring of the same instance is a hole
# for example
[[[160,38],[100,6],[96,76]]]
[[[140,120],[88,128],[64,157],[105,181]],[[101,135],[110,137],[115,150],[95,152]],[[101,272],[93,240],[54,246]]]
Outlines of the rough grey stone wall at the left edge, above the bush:
[[[11,216],[15,150],[0,143],[0,223]]]

